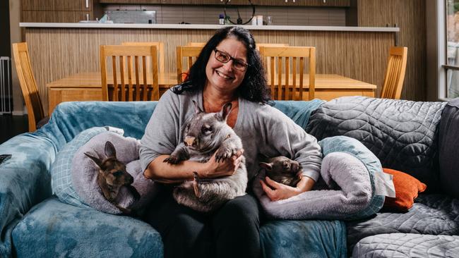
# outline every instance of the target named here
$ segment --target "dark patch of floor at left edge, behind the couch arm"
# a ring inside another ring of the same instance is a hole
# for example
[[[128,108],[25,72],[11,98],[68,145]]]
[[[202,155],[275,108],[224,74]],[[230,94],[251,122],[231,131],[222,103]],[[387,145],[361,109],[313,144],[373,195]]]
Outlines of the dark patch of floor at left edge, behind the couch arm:
[[[0,144],[21,133],[28,132],[27,115],[0,115]]]

